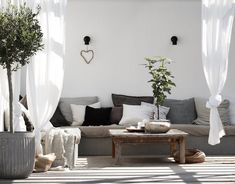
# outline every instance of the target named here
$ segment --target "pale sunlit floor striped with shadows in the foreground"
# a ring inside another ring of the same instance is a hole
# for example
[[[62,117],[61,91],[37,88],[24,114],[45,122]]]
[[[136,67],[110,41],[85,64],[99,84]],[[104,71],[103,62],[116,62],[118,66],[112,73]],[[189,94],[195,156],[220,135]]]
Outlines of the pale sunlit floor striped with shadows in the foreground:
[[[0,183],[233,183],[235,156],[207,157],[200,164],[176,164],[171,158],[124,158],[119,165],[109,156],[80,157],[66,171],[33,173],[24,180]]]

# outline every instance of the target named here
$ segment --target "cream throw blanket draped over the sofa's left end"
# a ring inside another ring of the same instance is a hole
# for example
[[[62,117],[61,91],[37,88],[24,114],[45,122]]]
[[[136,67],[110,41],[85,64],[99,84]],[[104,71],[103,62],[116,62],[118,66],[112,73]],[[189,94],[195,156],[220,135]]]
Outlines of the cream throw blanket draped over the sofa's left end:
[[[45,154],[55,153],[56,159],[52,167],[74,166],[75,144],[79,144],[81,132],[79,128],[52,128],[46,132]]]

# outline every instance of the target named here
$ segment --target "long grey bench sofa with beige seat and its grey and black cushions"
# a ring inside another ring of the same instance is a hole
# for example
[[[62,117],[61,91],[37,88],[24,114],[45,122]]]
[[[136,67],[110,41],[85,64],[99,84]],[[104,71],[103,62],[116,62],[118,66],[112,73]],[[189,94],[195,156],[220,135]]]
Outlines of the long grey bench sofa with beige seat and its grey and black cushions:
[[[153,103],[152,97],[143,96],[125,96],[112,94],[114,106],[111,109],[110,122],[107,124],[95,125],[71,125],[70,121],[64,117],[70,114],[72,110],[70,104],[89,105],[98,102],[97,97],[75,97],[61,98],[57,112],[54,114],[54,126],[63,128],[79,128],[81,131],[81,140],[78,145],[78,156],[98,156],[112,154],[112,140],[109,135],[110,129],[125,129],[126,126],[119,125],[122,117],[122,104],[139,105],[141,101]],[[171,121],[171,128],[179,129],[188,133],[186,139],[186,148],[197,148],[205,152],[206,155],[234,155],[235,147],[235,126],[231,124],[229,117],[229,101],[225,100],[219,109],[226,135],[221,139],[221,143],[215,146],[208,144],[209,122],[203,122],[203,118],[208,119],[209,109],[202,106],[205,99],[190,98],[185,100],[167,99],[164,106],[170,107],[167,119]],[[59,114],[59,118],[58,118]],[[87,114],[86,114],[87,115]],[[203,117],[204,116],[204,117]],[[63,119],[64,118],[64,119]],[[52,118],[53,119],[53,118]],[[138,144],[124,145],[124,155],[169,155],[170,148],[168,144]]]

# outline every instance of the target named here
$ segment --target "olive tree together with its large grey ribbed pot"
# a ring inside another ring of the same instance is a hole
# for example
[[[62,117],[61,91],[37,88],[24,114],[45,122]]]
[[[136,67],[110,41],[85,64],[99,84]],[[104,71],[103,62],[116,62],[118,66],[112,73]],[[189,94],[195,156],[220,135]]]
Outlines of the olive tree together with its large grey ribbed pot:
[[[0,65],[7,70],[10,132],[0,133],[0,178],[26,178],[32,173],[35,140],[32,132],[14,132],[12,72],[30,62],[43,49],[43,33],[34,13],[23,4],[8,3],[0,11]]]

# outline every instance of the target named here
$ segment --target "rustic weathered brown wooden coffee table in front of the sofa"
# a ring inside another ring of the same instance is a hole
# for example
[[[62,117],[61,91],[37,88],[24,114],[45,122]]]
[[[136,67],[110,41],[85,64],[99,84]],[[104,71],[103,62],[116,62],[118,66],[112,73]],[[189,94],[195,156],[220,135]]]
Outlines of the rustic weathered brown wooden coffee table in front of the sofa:
[[[115,158],[116,164],[121,159],[123,144],[138,144],[138,143],[155,143],[167,142],[170,144],[171,156],[176,151],[176,146],[179,144],[180,163],[185,163],[185,138],[188,135],[186,132],[177,129],[170,129],[167,133],[139,133],[128,132],[123,129],[110,129],[112,137],[112,157]]]

